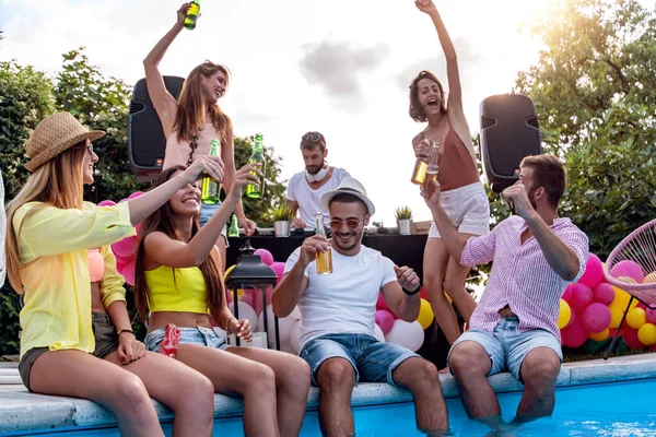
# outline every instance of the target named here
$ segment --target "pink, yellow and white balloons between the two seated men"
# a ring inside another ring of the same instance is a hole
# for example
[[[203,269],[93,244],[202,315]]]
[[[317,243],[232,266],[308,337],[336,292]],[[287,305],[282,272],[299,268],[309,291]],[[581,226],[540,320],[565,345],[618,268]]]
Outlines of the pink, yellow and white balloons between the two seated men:
[[[378,295],[376,303],[376,338],[380,341],[397,343],[412,352],[417,352],[424,342],[424,329],[433,322],[433,309],[429,303],[425,290],[420,290],[421,306],[419,316],[413,322],[407,322],[398,317],[389,309],[387,303],[383,298],[383,293]]]

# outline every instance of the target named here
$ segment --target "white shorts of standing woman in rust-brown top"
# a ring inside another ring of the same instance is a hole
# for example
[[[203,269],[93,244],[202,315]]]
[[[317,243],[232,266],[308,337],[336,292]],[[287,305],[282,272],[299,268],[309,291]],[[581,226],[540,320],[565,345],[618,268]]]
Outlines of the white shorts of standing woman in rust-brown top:
[[[490,233],[490,202],[481,182],[444,191],[442,208],[460,234]],[[429,238],[441,238],[435,222],[431,223]]]

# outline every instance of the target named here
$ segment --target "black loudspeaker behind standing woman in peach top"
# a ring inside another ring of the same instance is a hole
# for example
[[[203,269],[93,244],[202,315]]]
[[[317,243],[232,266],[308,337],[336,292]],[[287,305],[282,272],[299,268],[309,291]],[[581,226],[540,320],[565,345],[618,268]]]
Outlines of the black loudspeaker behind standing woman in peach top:
[[[184,78],[165,75],[166,90],[177,99],[183,88]],[[166,139],[160,117],[148,95],[145,79],[141,79],[132,91],[130,115],[128,117],[128,155],[132,173],[141,181],[153,180],[164,164]]]

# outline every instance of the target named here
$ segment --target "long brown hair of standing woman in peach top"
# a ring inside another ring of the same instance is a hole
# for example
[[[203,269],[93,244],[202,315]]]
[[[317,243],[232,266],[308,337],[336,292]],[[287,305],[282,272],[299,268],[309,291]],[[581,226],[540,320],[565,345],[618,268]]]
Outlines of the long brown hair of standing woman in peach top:
[[[183,84],[183,91],[178,97],[178,109],[175,114],[175,120],[173,122],[173,130],[177,129],[178,142],[189,140],[189,133],[200,128],[206,120],[206,110],[209,109],[210,118],[214,129],[221,134],[221,143],[225,144],[227,141],[227,129],[232,127],[230,117],[226,116],[219,105],[207,105],[203,104],[201,78],[208,79],[215,74],[218,71],[223,72],[225,75],[225,88],[230,84],[230,71],[227,67],[204,61],[200,66],[196,67],[187,80]]]

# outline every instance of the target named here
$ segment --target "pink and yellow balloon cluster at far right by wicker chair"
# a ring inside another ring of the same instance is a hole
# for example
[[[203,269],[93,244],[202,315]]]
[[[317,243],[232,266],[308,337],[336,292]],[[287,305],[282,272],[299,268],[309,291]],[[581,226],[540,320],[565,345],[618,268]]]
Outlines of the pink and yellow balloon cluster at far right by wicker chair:
[[[656,282],[656,273],[645,276],[642,268],[633,261],[619,262],[610,274],[622,277],[624,282]],[[604,341],[614,335],[630,300],[629,293],[606,282],[601,260],[590,253],[584,274],[578,282],[567,286],[560,302],[558,327],[562,344],[578,347],[588,339]],[[630,349],[656,345],[656,310],[634,299],[617,334]]]

